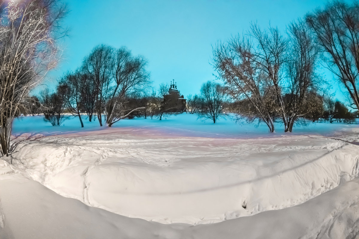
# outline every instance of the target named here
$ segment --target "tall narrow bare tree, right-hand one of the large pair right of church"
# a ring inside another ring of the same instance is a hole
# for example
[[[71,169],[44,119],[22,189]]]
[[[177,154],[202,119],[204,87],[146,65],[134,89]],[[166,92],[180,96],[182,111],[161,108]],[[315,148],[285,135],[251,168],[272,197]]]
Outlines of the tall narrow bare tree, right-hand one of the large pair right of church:
[[[307,103],[309,93],[315,91],[317,86],[314,66],[318,51],[304,22],[290,24],[288,31],[288,61],[285,62],[284,72],[286,79],[281,85],[285,93],[285,112],[281,112],[281,116],[286,117],[288,131],[292,132],[297,118],[304,117],[311,111]]]

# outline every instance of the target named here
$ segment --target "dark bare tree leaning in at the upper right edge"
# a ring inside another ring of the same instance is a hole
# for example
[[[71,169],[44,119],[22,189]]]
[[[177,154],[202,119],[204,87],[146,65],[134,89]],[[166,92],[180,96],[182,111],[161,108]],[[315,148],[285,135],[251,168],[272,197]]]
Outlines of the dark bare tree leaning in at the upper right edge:
[[[334,1],[306,16],[328,69],[341,81],[359,108],[359,4]]]

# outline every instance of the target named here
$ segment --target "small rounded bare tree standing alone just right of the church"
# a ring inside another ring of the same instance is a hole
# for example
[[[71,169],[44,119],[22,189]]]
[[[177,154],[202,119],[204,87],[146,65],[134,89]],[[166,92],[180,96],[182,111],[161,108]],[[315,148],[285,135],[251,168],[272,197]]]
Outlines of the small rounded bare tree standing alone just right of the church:
[[[209,118],[215,123],[217,118],[223,114],[224,91],[220,88],[219,84],[207,81],[207,83],[202,84],[201,96],[204,105],[204,111],[201,112],[201,116]]]

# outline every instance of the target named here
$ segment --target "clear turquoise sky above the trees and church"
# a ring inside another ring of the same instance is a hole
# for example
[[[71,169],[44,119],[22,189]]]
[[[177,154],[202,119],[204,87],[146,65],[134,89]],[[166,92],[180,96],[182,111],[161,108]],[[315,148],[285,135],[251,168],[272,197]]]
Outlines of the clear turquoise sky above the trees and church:
[[[66,0],[65,0],[66,1]],[[149,62],[153,86],[177,82],[185,97],[215,79],[212,45],[246,32],[251,22],[285,27],[326,0],[67,0],[63,59],[51,78],[75,70],[98,44],[126,46]],[[332,79],[333,76],[326,76]],[[51,86],[51,83],[48,83]],[[344,100],[337,90],[336,97]]]

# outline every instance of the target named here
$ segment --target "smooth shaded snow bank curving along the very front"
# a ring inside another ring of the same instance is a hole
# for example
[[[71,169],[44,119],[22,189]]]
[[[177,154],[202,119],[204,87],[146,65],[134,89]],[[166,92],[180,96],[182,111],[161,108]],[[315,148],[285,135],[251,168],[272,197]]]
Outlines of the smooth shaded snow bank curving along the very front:
[[[354,239],[359,233],[358,178],[295,207],[215,224],[168,225],[62,197],[0,160],[0,202],[0,238],[4,239]]]

